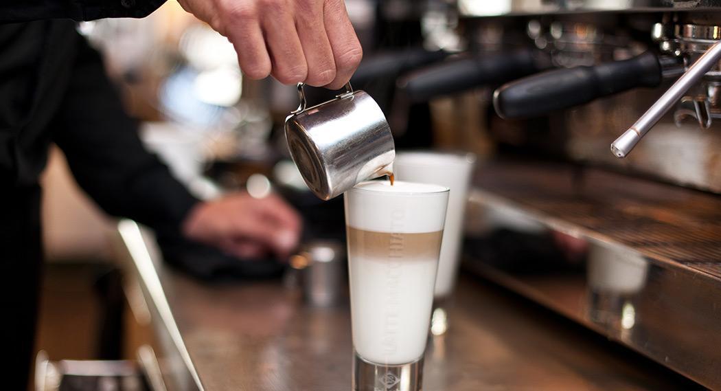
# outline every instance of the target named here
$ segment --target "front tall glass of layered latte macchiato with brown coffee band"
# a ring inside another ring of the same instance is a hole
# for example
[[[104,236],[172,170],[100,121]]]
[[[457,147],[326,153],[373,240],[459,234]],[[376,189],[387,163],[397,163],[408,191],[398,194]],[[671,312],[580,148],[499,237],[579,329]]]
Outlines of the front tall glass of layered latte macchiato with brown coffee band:
[[[345,193],[354,391],[417,391],[423,379],[448,188],[371,181]]]

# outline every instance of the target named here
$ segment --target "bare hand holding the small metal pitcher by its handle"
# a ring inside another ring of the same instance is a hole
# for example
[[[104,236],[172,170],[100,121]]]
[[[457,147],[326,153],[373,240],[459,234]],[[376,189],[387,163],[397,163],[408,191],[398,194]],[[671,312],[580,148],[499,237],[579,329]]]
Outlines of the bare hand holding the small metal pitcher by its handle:
[[[340,89],[363,56],[343,0],[178,0],[225,35],[251,79]]]

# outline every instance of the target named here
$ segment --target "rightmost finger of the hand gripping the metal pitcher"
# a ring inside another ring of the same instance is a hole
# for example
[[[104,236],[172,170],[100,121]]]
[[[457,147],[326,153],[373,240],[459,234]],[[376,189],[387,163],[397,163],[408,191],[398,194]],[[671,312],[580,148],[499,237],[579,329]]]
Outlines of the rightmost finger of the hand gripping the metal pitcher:
[[[327,87],[340,89],[348,83],[361,63],[363,48],[350,23],[343,0],[326,1],[323,20],[335,61],[335,79]]]

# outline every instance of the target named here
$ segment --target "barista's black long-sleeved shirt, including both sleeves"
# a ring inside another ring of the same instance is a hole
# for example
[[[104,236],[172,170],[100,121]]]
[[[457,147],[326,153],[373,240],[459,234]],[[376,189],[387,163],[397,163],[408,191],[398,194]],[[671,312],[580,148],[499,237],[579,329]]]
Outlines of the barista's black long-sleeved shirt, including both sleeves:
[[[4,0],[0,21],[145,16],[162,1]],[[143,148],[99,54],[68,19],[0,23],[0,189],[37,184],[50,143],[110,214],[176,226],[197,202]]]

